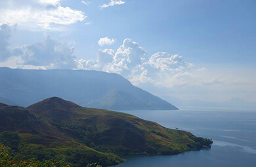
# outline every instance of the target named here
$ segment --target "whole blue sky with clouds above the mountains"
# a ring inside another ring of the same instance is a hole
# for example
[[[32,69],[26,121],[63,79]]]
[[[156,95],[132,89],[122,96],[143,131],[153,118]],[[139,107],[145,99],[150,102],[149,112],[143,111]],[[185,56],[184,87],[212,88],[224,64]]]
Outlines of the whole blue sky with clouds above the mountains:
[[[0,66],[118,73],[157,96],[256,102],[256,1],[1,0]]]

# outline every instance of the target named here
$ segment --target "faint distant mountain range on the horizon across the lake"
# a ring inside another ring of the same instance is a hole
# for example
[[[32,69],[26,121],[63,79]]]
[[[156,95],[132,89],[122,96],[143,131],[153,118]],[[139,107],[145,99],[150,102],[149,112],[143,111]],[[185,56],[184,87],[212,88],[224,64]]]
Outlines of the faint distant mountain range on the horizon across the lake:
[[[223,102],[204,102],[202,100],[181,100],[169,96],[161,97],[182,109],[256,109],[256,103],[245,102],[240,98],[232,98]]]

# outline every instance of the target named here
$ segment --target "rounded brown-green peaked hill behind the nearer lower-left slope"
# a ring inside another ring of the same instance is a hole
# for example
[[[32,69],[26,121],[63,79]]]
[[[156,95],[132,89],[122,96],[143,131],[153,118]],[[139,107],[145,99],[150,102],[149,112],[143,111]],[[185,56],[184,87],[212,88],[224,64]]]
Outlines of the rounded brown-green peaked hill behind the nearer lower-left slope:
[[[50,107],[51,100],[56,101],[55,105],[58,107]],[[196,138],[189,132],[167,129],[156,122],[144,121],[125,113],[77,105],[72,107],[73,105],[68,105],[70,102],[66,102],[66,109],[59,107],[64,106],[65,102],[60,98],[50,98],[27,109],[58,127],[66,129],[74,126],[73,130],[82,137],[77,139],[89,145],[96,145],[95,148],[101,151],[121,146],[129,152],[143,153],[150,147],[156,154],[163,154],[167,150],[169,154],[175,154],[203,147],[197,145],[197,139],[202,138]]]

